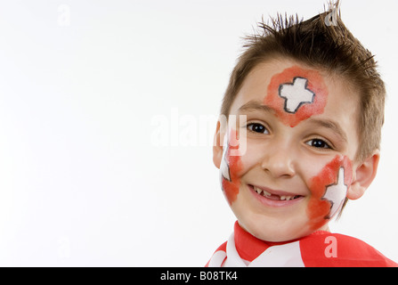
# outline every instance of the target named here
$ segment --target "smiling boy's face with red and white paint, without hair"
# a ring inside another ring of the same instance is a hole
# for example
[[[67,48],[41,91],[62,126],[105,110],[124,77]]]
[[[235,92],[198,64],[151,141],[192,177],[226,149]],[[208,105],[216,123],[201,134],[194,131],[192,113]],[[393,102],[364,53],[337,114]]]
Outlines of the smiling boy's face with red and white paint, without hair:
[[[328,229],[355,179],[358,98],[343,79],[295,61],[248,74],[215,159],[240,226],[269,241]]]

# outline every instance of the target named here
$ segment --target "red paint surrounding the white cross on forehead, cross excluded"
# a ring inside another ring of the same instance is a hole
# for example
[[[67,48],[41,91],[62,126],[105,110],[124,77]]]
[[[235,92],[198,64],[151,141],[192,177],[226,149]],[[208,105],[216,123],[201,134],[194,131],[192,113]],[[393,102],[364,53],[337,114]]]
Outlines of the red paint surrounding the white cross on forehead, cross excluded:
[[[311,90],[315,97],[312,103],[301,105],[296,110],[296,113],[293,114],[284,110],[285,99],[280,97],[279,88],[281,84],[292,84],[295,77],[306,78],[308,80],[306,88]],[[294,66],[284,69],[271,78],[267,95],[264,98],[264,104],[275,110],[275,115],[280,118],[283,124],[293,127],[306,118],[323,113],[327,100],[328,87],[325,85],[321,74],[315,70],[301,69],[298,66]]]

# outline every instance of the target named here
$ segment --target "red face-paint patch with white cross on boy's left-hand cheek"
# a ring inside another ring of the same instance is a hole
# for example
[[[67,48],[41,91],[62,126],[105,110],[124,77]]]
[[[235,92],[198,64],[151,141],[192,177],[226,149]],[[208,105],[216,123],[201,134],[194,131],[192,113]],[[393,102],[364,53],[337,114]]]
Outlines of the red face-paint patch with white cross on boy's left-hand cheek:
[[[228,203],[231,204],[237,199],[240,191],[240,171],[242,162],[240,155],[236,155],[239,150],[236,130],[231,130],[228,142],[224,144],[223,159],[220,166],[221,183],[223,193]],[[234,155],[231,155],[233,153]]]

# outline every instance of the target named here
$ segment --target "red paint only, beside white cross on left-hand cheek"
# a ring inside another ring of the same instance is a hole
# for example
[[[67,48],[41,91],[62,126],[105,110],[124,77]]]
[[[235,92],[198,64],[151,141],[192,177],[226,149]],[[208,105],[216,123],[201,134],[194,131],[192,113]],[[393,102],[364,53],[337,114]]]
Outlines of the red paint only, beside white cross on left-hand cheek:
[[[239,149],[239,142],[236,130],[231,130],[230,137],[228,140],[228,151],[226,158],[228,166],[230,167],[231,182],[222,178],[223,193],[228,203],[231,205],[238,197],[240,191],[240,176],[239,173],[242,170],[242,162],[240,156],[231,156],[231,151],[237,152]],[[224,146],[225,147],[225,146]]]

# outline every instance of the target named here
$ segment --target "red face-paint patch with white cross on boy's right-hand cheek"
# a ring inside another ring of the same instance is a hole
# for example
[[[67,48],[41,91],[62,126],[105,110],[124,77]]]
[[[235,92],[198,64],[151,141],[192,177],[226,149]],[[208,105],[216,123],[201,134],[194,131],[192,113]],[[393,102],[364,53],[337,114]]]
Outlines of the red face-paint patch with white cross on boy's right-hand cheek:
[[[311,179],[311,198],[308,201],[307,215],[312,230],[321,228],[337,214],[352,179],[352,164],[345,156],[337,156]]]

